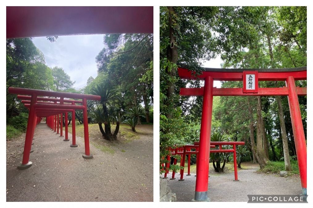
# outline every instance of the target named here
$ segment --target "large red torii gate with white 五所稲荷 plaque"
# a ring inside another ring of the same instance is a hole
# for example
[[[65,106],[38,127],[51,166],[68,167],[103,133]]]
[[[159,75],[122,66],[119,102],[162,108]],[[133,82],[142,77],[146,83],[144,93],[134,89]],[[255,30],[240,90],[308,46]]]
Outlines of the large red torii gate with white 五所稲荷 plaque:
[[[182,79],[204,80],[203,88],[181,88],[182,96],[203,96],[195,198],[192,201],[210,201],[208,175],[213,96],[288,96],[292,130],[301,179],[302,194],[306,192],[306,142],[301,119],[298,95],[306,95],[306,88],[295,86],[295,80],[306,80],[306,67],[292,69],[219,69],[204,68],[201,75],[189,71],[189,66],[179,64]],[[251,75],[251,76],[250,76]],[[251,80],[250,80],[251,78]],[[213,80],[243,81],[243,88],[213,88]],[[251,82],[250,82],[251,81]],[[285,81],[286,87],[259,88],[258,81]]]

